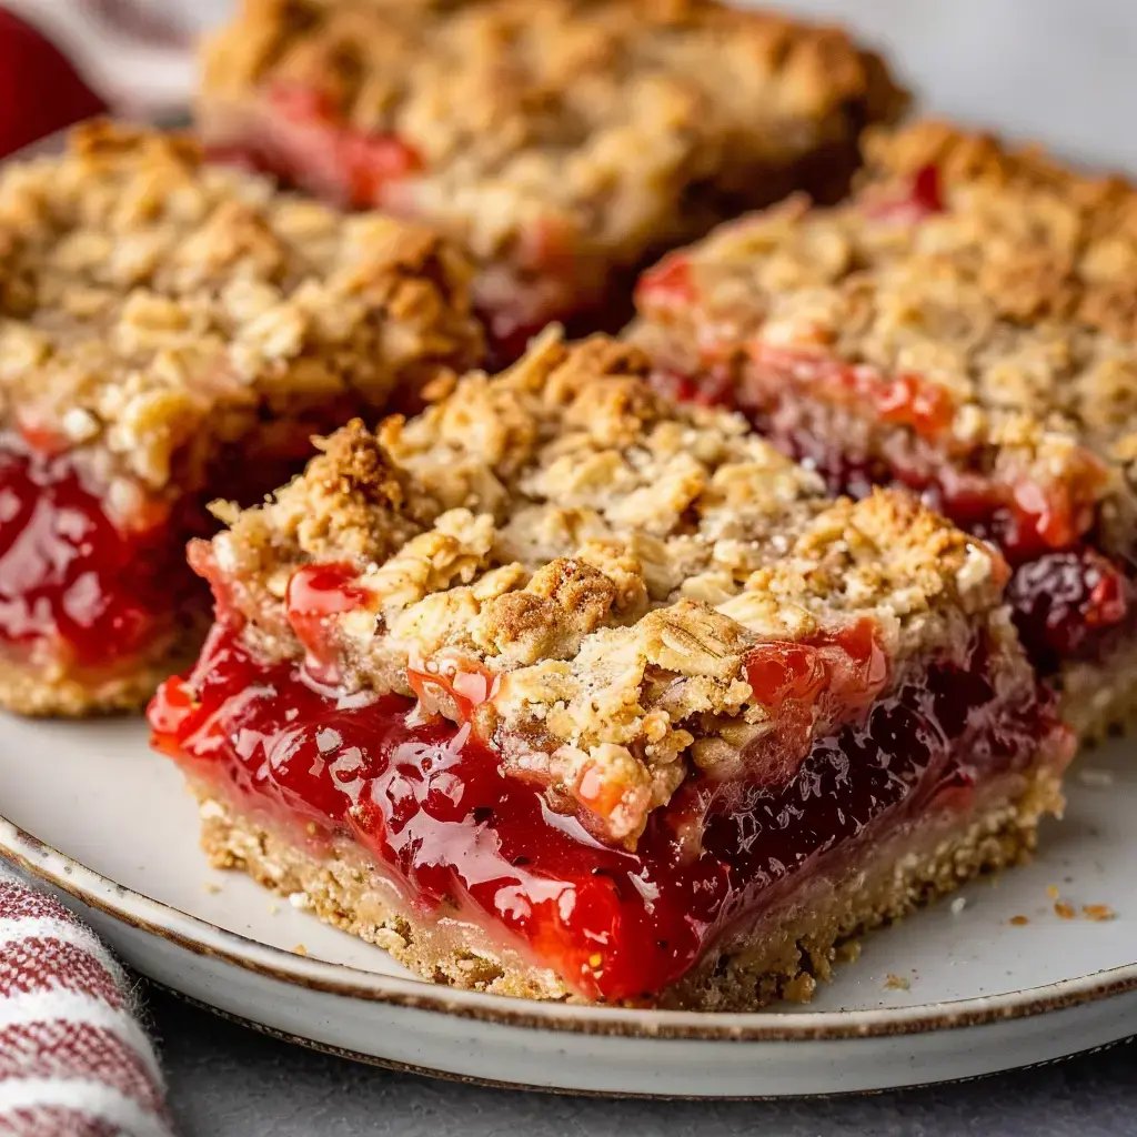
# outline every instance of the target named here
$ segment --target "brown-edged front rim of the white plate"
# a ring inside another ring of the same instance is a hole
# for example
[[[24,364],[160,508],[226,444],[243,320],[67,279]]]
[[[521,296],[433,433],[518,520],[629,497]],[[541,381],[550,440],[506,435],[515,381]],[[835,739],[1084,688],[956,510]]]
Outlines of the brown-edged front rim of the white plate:
[[[0,861],[175,947],[263,978],[368,1003],[530,1030],[688,1041],[838,1041],[922,1035],[1053,1014],[1137,989],[1137,962],[998,995],[852,1011],[672,1011],[542,1003],[439,987],[297,955],[119,885],[0,815]]]

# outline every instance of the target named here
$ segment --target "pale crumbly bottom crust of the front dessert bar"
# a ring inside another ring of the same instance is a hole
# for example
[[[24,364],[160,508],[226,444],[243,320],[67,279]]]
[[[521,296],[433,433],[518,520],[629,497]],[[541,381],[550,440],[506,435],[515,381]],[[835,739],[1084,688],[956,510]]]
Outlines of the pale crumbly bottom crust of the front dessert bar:
[[[315,857],[255,816],[198,785],[201,845],[218,869],[248,872],[258,883],[310,910],[325,923],[389,951],[423,978],[522,998],[572,1001],[547,968],[504,949],[473,924],[449,927],[407,911],[356,846]],[[938,818],[895,843],[874,843],[798,889],[782,910],[717,945],[700,965],[658,998],[664,1006],[753,1011],[778,998],[807,1001],[849,937],[898,919],[954,891],[981,872],[1018,864],[1035,847],[1039,819],[1061,813],[1057,778],[1047,767],[994,792],[988,787],[971,819]]]

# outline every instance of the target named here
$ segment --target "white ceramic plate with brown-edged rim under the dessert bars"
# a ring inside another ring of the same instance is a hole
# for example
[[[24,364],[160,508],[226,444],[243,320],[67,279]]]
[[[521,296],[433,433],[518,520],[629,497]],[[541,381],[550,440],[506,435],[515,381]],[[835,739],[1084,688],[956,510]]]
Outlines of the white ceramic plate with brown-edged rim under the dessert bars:
[[[141,722],[0,716],[0,855],[67,894],[139,971],[310,1045],[595,1093],[872,1090],[1137,1034],[1131,752],[1081,760],[1067,819],[1047,827],[1032,865],[971,886],[962,912],[940,903],[869,937],[811,1006],[758,1014],[546,1005],[410,978],[243,875],[209,870],[193,803]],[[1062,920],[1052,887],[1079,912],[1107,904],[1117,918]]]

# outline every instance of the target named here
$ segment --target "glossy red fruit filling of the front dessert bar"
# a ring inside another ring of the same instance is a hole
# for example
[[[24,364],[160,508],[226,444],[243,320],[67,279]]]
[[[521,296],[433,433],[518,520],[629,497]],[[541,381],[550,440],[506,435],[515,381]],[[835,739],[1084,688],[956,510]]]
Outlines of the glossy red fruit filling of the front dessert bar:
[[[756,661],[785,698],[824,680],[816,658]],[[594,999],[636,999],[686,974],[723,935],[863,841],[966,811],[978,785],[1052,742],[1049,707],[996,695],[985,645],[913,673],[820,739],[789,772],[692,772],[636,852],[554,811],[501,772],[470,723],[399,696],[341,696],[252,658],[224,623],[150,707],[156,746],[315,856],[362,846],[417,919],[460,915]],[[807,688],[810,690],[807,690]]]

